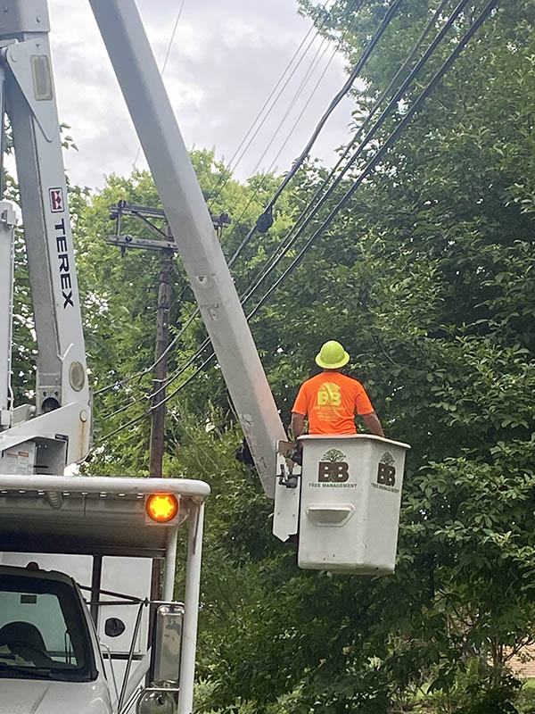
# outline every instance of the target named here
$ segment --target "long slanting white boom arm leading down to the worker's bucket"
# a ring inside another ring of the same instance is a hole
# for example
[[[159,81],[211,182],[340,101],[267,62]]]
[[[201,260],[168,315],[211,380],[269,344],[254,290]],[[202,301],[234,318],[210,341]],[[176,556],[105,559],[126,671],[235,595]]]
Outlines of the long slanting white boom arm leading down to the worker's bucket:
[[[286,435],[134,0],[90,0],[266,494]]]

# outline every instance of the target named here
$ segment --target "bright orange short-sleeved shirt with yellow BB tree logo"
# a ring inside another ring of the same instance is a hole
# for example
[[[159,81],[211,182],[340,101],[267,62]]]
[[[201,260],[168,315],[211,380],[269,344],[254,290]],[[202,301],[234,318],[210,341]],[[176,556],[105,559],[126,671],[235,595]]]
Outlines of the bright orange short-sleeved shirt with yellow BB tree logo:
[[[321,372],[301,385],[292,411],[309,415],[309,434],[357,434],[355,412],[374,407],[364,386],[342,372]]]

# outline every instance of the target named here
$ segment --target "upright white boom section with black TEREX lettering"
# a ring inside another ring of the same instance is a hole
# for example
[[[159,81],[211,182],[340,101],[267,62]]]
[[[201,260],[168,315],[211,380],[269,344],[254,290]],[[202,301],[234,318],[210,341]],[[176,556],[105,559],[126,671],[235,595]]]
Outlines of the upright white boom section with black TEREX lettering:
[[[0,19],[0,93],[12,126],[37,334],[33,410],[2,404],[0,450],[37,445],[18,472],[62,473],[89,449],[91,412],[78,282],[70,232],[45,0],[4,0]],[[4,245],[4,250],[7,250]],[[11,313],[11,288],[2,292]],[[8,365],[9,366],[9,361]],[[0,397],[9,385],[1,364]],[[31,416],[36,415],[34,419]],[[6,471],[6,459],[0,470]],[[21,461],[19,459],[19,461]]]

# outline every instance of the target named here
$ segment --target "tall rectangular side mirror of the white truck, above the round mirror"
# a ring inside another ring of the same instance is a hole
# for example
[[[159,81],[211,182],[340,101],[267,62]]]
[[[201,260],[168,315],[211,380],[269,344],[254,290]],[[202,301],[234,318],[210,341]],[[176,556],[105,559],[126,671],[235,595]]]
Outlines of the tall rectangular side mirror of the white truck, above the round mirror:
[[[184,605],[169,602],[154,613],[149,681],[152,686],[178,686]]]

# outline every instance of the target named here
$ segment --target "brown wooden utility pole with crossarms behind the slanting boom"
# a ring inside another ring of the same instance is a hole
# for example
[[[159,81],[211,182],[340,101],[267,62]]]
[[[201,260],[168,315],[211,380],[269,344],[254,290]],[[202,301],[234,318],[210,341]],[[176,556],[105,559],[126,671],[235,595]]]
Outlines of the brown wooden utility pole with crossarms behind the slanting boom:
[[[120,235],[121,219],[124,216],[133,216],[141,220],[150,228],[153,238],[140,238],[129,234]],[[165,451],[165,380],[168,372],[169,347],[169,310],[171,305],[171,291],[174,280],[174,255],[177,253],[177,242],[174,240],[165,213],[161,208],[137,206],[126,201],[119,201],[110,206],[110,219],[115,220],[115,235],[108,237],[108,243],[119,245],[121,253],[127,248],[140,248],[144,250],[159,251],[160,279],[158,284],[158,309],[156,314],[156,347],[154,350],[154,369],[152,370],[152,423],[151,442],[149,451],[149,476],[161,477],[163,453]],[[164,228],[159,228],[152,223],[153,219],[163,220]],[[230,224],[226,213],[212,216],[212,223],[218,235],[225,226]]]

